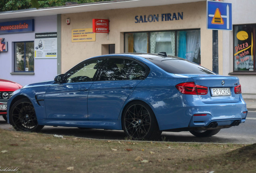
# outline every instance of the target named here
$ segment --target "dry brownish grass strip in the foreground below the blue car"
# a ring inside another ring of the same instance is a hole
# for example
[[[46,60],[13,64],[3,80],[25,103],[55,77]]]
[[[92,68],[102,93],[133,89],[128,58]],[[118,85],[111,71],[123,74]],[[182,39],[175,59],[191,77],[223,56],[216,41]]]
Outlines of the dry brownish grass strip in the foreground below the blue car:
[[[0,171],[21,173],[255,173],[256,144],[58,138],[0,129]]]

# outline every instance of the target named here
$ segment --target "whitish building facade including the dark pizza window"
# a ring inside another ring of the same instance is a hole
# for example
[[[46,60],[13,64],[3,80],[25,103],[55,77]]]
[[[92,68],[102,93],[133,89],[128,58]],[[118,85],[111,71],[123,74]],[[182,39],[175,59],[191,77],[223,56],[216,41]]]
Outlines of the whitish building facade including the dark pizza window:
[[[233,30],[223,31],[223,75],[239,77],[243,97],[256,99],[256,1],[225,2],[232,3]]]

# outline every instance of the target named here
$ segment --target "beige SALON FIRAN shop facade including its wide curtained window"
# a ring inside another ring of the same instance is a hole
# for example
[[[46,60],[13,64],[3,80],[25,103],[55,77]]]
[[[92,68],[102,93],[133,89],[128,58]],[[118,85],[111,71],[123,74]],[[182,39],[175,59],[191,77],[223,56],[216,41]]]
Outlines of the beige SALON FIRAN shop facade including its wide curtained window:
[[[93,19],[109,20],[109,33],[96,33],[93,42],[72,42],[72,30],[92,28]],[[115,46],[116,53],[167,52],[212,68],[212,31],[206,29],[206,1],[62,14],[61,23],[62,43],[70,43],[62,44],[62,72],[83,59],[109,53],[110,45]],[[221,56],[219,63],[222,73]]]

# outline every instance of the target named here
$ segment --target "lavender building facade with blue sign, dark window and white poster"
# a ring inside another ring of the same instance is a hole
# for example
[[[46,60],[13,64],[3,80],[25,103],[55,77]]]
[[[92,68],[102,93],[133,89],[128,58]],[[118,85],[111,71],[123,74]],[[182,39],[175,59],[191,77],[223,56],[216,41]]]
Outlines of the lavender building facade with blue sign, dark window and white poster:
[[[57,54],[47,56],[57,53],[57,15],[0,20],[0,29],[0,78],[25,86],[57,75]]]

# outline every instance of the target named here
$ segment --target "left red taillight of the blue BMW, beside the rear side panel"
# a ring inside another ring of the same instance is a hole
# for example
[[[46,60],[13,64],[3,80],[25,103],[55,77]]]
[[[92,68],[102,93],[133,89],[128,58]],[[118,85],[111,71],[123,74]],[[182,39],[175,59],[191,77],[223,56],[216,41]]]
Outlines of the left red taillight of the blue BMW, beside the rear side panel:
[[[180,83],[175,86],[180,93],[186,95],[206,95],[208,88],[200,85],[196,85],[194,82]]]

